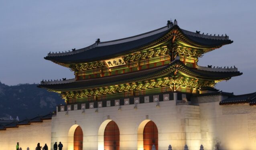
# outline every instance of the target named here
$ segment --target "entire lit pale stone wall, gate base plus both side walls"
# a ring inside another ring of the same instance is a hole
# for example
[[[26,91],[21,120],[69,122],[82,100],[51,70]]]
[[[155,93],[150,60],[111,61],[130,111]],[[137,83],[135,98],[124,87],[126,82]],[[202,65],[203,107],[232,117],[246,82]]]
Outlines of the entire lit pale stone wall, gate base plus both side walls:
[[[73,134],[83,130],[83,150],[104,150],[104,130],[114,120],[120,130],[120,150],[143,150],[143,129],[152,120],[158,128],[158,150],[256,150],[256,107],[248,104],[219,105],[221,95],[200,97],[188,105],[174,100],[85,110],[59,111],[52,120],[0,130],[0,149],[13,150],[16,142],[26,150],[55,142],[73,150]]]

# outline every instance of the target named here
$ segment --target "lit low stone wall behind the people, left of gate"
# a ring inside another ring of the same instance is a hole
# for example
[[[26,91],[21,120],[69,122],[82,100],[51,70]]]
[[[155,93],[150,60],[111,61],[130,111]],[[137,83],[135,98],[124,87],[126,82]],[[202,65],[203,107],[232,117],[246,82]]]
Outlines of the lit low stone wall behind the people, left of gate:
[[[22,150],[35,150],[37,143],[47,144],[51,149],[51,120],[31,122],[30,125],[19,125],[15,128],[0,130],[0,149],[15,150],[19,142]]]

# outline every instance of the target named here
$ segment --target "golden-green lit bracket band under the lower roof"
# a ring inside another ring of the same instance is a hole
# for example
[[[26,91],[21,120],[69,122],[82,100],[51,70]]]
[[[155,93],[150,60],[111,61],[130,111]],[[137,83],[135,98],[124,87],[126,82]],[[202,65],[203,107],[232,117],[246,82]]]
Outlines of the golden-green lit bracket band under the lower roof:
[[[81,98],[88,96],[97,96],[97,95],[108,95],[114,93],[122,93],[127,91],[134,90],[143,90],[143,89],[154,89],[157,87],[167,87],[171,88],[171,91],[175,91],[178,87],[191,87],[191,88],[200,88],[200,87],[214,87],[215,81],[203,81],[199,79],[193,79],[189,77],[162,77],[158,79],[151,79],[146,81],[126,83],[120,85],[110,85],[106,87],[98,87],[93,89],[81,89],[81,90],[69,90],[69,91],[54,91],[60,93],[63,99],[71,98]]]

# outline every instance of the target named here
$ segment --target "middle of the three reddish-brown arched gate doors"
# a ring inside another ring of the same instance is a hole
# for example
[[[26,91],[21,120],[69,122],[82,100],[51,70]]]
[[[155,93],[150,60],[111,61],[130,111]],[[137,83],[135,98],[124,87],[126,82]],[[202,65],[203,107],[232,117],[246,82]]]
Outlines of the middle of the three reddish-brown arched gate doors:
[[[104,150],[119,150],[120,132],[113,120],[110,121],[104,130]]]

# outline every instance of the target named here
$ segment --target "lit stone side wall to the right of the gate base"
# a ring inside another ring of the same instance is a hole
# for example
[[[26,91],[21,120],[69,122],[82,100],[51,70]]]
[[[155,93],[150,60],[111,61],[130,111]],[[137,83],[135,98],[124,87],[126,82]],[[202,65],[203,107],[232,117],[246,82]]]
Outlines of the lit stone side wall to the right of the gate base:
[[[256,107],[219,105],[228,97],[197,97],[200,107],[201,144],[204,150],[256,150]],[[209,102],[209,103],[207,103]]]

